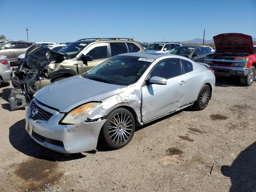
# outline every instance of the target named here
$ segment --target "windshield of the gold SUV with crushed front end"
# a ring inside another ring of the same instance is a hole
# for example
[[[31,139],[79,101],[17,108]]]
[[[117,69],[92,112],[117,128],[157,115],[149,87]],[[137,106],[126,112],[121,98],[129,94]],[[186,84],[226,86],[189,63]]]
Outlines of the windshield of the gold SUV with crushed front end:
[[[81,42],[72,42],[62,47],[58,52],[66,53],[70,58],[74,58],[86,45]]]

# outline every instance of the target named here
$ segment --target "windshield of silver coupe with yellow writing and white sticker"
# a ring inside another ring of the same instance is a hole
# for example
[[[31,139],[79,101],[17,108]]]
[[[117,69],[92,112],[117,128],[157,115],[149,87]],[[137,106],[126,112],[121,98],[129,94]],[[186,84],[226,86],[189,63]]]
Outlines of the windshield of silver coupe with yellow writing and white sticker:
[[[114,56],[99,64],[82,77],[117,85],[129,85],[138,81],[154,59],[135,56]]]

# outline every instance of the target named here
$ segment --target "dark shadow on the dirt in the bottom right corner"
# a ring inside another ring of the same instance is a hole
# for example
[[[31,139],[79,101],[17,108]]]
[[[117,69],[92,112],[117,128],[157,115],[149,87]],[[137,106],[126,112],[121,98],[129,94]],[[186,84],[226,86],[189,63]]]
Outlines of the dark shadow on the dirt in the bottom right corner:
[[[231,166],[222,166],[221,172],[230,177],[230,192],[256,192],[256,142],[243,150]]]

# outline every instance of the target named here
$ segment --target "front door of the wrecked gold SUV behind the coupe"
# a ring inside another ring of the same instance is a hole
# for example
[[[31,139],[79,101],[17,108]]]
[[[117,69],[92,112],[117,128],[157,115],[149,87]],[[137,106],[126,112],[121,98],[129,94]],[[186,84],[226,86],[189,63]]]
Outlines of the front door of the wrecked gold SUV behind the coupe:
[[[92,56],[92,61],[88,61],[87,63],[83,63],[82,57],[83,56]],[[109,58],[109,52],[108,52],[108,43],[102,42],[102,43],[95,43],[86,50],[84,50],[83,54],[78,58],[77,64],[78,64],[78,73],[82,74],[94,66],[97,66],[98,64],[101,64],[105,60]]]

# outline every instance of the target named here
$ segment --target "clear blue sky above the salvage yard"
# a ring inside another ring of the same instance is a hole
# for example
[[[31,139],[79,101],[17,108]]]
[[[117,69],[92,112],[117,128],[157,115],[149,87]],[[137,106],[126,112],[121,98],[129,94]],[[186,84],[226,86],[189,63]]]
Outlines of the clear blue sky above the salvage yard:
[[[126,37],[182,41],[238,32],[256,37],[256,0],[0,0],[7,39],[65,42]]]

